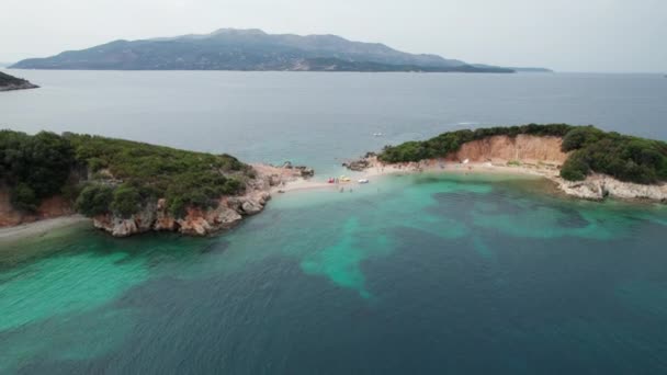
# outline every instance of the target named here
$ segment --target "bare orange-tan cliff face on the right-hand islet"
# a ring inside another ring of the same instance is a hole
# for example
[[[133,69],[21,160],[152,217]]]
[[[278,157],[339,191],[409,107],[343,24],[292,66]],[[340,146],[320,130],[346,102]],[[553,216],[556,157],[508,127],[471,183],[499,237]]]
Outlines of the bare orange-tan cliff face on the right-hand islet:
[[[561,151],[563,139],[559,137],[538,137],[519,135],[517,137],[493,136],[473,140],[461,146],[459,151],[448,156],[448,160],[468,159],[476,162],[508,162],[512,160],[524,163],[547,162],[563,164],[567,154]]]

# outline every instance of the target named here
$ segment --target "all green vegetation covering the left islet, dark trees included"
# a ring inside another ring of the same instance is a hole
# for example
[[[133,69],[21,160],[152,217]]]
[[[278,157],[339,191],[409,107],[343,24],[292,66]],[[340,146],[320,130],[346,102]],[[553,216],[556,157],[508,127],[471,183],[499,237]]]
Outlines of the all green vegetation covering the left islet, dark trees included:
[[[228,155],[89,135],[0,132],[0,180],[10,186],[14,207],[25,211],[63,194],[87,216],[128,217],[163,197],[180,217],[186,207],[215,206],[222,195],[241,193],[252,177],[249,166]]]

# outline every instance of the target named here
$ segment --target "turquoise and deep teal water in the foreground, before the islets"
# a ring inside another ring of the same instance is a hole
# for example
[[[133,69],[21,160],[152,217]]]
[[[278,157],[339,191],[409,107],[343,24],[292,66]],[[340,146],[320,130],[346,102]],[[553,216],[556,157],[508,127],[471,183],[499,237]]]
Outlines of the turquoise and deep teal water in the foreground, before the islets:
[[[4,245],[0,373],[664,373],[667,211],[544,190],[389,177],[214,238]]]

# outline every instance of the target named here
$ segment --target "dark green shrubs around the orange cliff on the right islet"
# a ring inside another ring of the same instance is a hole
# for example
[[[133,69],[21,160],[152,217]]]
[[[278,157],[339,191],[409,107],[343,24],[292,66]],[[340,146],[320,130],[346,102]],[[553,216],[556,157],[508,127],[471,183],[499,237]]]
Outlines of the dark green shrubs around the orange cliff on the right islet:
[[[569,181],[586,179],[591,172],[643,184],[667,181],[667,144],[603,132],[593,126],[566,124],[490,127],[443,133],[425,141],[387,146],[378,155],[384,162],[408,162],[441,158],[457,151],[465,143],[497,135],[520,134],[563,137],[563,151],[572,152],[561,169]]]

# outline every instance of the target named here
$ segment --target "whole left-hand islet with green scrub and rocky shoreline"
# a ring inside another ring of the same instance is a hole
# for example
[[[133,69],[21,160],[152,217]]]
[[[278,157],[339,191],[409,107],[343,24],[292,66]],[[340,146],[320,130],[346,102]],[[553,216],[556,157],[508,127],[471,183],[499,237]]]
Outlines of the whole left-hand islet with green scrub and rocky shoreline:
[[[122,139],[0,130],[0,228],[79,213],[115,237],[204,236],[261,212],[272,190],[313,173]]]

